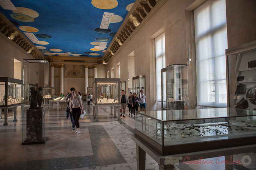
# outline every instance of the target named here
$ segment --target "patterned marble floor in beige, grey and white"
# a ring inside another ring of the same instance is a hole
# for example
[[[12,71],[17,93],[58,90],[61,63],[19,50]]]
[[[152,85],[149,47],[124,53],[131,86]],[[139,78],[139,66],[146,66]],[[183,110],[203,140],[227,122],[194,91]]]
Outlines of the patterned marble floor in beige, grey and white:
[[[92,105],[87,107],[86,116],[80,118],[81,134],[72,132],[71,122],[65,111],[46,111],[45,144],[21,145],[22,120],[20,108],[17,109],[18,122],[13,122],[13,111],[8,114],[8,126],[0,119],[0,170],[136,170],[136,145],[130,135],[134,133],[134,118],[126,117],[117,121],[110,107],[98,108],[99,122],[94,122]],[[119,116],[119,112],[117,112]],[[3,117],[3,114],[2,114]],[[256,170],[256,154],[234,155],[234,160],[244,155],[251,158],[251,164],[234,165],[235,170]],[[179,164],[176,170],[224,170],[221,164],[224,157],[209,158],[215,164]],[[158,164],[146,155],[146,169],[157,170]]]

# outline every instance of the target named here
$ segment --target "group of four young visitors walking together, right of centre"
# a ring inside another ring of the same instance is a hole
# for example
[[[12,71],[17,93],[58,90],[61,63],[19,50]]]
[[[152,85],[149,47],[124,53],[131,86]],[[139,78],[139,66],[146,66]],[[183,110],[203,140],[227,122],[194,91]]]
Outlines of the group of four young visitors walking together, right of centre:
[[[125,117],[125,109],[126,106],[129,108],[129,116],[135,116],[135,111],[138,111],[140,107],[140,111],[146,111],[147,99],[146,95],[143,93],[144,91],[140,90],[139,98],[136,93],[129,93],[129,97],[125,95],[125,90],[122,90],[122,95],[120,99],[120,117]]]

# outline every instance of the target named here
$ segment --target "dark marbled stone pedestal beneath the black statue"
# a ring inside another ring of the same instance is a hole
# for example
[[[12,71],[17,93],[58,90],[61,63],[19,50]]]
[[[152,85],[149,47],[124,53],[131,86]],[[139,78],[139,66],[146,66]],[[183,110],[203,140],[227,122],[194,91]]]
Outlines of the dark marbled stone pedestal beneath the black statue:
[[[27,139],[22,145],[45,143],[43,109],[27,109]]]

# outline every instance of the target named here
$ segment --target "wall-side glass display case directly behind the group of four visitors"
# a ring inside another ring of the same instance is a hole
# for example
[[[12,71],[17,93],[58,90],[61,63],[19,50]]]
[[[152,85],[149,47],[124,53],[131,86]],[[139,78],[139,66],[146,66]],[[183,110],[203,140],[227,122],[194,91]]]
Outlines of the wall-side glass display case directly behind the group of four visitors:
[[[145,84],[146,84],[145,75],[138,75],[136,77],[133,77],[133,93],[136,93],[137,97],[139,97],[141,89],[144,91],[144,94],[146,95]]]

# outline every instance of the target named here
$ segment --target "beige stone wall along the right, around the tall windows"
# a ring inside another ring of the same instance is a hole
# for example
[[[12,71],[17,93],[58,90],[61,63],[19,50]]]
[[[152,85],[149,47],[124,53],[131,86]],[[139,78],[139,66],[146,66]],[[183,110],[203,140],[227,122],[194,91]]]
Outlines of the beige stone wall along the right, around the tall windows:
[[[193,61],[189,65],[190,106],[196,105],[196,63],[193,10],[205,0],[168,0],[141,30],[110,59],[107,71],[127,61],[134,50],[134,75],[146,75],[148,109],[161,109],[156,102],[154,38],[165,33],[166,66],[188,64],[188,43]],[[256,39],[256,1],[226,0],[228,47]],[[121,67],[121,80],[127,82],[127,67]]]

